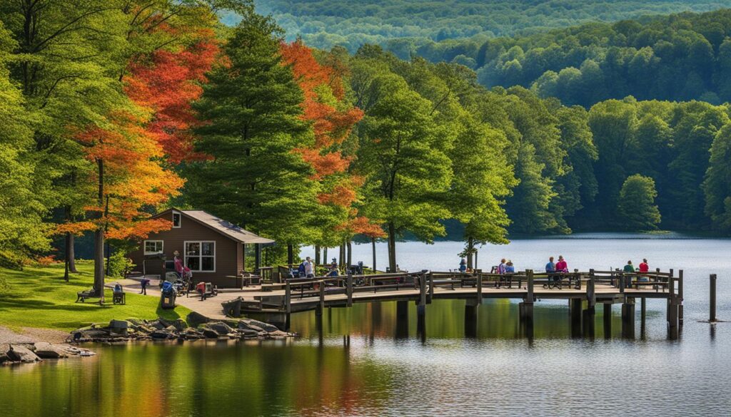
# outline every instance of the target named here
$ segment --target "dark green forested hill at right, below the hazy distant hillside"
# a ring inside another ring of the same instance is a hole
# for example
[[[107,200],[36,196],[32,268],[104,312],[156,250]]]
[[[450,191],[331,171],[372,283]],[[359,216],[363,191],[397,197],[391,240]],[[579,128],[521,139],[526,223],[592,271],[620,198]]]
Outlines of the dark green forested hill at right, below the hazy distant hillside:
[[[431,61],[477,69],[483,85],[523,85],[564,104],[605,99],[731,99],[731,10],[591,23],[482,45],[417,48]]]

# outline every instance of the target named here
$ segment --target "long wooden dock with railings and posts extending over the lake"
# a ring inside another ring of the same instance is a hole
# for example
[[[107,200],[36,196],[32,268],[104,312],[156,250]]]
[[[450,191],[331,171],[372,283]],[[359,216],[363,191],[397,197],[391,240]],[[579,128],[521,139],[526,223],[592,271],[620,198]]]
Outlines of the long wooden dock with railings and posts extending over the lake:
[[[484,299],[519,299],[520,323],[532,334],[533,306],[542,299],[566,299],[574,326],[583,334],[594,334],[596,305],[605,309],[605,326],[612,305],[621,305],[622,334],[635,334],[635,303],[640,302],[644,328],[646,299],[667,300],[667,331],[678,337],[683,324],[683,271],[623,273],[595,271],[547,274],[532,270],[513,274],[471,272],[398,272],[379,275],[346,275],[334,278],[284,280],[262,289],[253,299],[233,299],[224,303],[229,315],[258,317],[289,328],[289,315],[314,310],[322,315],[326,307],[350,307],[357,302],[406,302],[417,305],[423,319],[427,305],[434,299],[464,299],[466,320],[477,317],[477,306]],[[609,313],[609,314],[607,314]]]

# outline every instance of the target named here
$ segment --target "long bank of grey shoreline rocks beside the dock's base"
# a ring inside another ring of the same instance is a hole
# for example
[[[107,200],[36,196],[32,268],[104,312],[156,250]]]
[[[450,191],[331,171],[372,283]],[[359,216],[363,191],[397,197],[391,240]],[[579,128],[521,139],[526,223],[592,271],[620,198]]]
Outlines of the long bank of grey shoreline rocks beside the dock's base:
[[[199,339],[277,339],[292,337],[276,326],[251,319],[212,321],[198,313],[186,320],[113,320],[108,325],[94,324],[72,332],[77,343],[126,343],[129,340],[199,340]]]

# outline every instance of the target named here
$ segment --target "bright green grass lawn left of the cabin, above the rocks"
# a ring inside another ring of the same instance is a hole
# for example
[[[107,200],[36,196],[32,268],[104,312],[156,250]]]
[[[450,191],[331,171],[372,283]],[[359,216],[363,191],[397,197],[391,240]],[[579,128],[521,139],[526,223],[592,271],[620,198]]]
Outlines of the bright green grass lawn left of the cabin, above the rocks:
[[[77,262],[78,274],[64,281],[64,264],[48,267],[25,267],[22,271],[0,268],[0,274],[10,284],[10,290],[0,294],[0,326],[18,330],[38,327],[71,331],[91,323],[105,323],[113,318],[185,318],[190,310],[178,305],[175,310],[159,308],[157,297],[126,294],[126,305],[112,304],[112,291],[106,290],[106,304],[75,303],[76,292],[91,288],[94,264]],[[107,282],[113,282],[107,277]]]

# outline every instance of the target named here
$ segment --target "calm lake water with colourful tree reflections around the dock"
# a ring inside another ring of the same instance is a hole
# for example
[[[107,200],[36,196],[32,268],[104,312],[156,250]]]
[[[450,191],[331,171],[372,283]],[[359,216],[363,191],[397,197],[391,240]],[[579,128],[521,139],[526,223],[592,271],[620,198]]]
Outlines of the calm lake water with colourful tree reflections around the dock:
[[[402,269],[455,268],[461,242],[398,244]],[[304,252],[303,256],[307,253]],[[539,302],[534,338],[521,337],[518,300],[486,301],[477,334],[465,336],[464,302],[427,306],[397,326],[395,303],[292,316],[302,337],[254,343],[146,343],[98,348],[99,356],[0,367],[0,416],[729,416],[731,323],[711,326],[708,275],[719,275],[718,316],[731,319],[731,240],[679,235],[580,234],[514,240],[480,249],[479,266],[501,257],[542,269],[550,255],[570,268],[685,271],[685,326],[667,340],[663,300],[648,300],[645,337],[572,338],[566,302]],[[385,246],[379,247],[385,265]],[[371,264],[371,246],[354,261]],[[637,307],[639,321],[639,306]],[[343,336],[350,337],[349,347]]]

